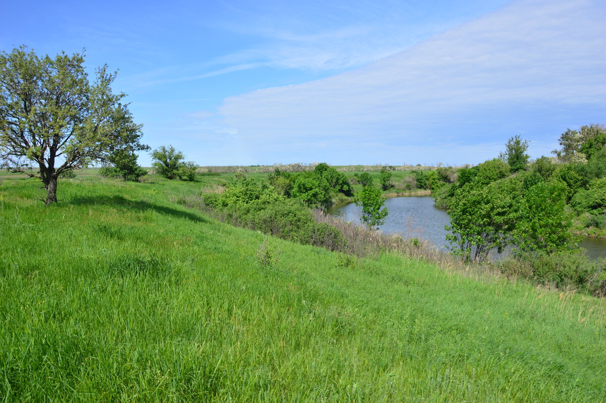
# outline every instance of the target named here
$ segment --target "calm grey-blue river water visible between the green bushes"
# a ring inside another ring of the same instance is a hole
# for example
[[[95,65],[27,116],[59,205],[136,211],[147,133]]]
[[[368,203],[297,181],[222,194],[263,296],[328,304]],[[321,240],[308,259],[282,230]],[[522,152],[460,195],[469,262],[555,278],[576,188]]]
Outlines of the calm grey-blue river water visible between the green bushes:
[[[385,200],[385,206],[389,215],[385,224],[379,227],[383,232],[402,234],[405,238],[419,238],[446,250],[447,231],[444,225],[450,224],[450,219],[444,208],[433,204],[433,198],[390,198]],[[356,224],[360,222],[360,207],[353,203],[333,206],[328,209],[328,213]],[[587,256],[591,259],[606,258],[606,239],[585,238],[579,246],[587,249]]]

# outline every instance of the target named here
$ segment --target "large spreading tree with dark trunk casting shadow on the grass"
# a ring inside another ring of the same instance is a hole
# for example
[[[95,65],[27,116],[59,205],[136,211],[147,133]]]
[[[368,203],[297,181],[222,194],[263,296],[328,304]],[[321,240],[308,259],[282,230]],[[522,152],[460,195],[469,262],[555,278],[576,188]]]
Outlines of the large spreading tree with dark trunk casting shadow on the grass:
[[[115,78],[104,65],[90,83],[84,54],[39,58],[25,46],[0,54],[0,164],[41,179],[47,205],[57,201],[60,175],[147,149],[125,94],[112,93]]]

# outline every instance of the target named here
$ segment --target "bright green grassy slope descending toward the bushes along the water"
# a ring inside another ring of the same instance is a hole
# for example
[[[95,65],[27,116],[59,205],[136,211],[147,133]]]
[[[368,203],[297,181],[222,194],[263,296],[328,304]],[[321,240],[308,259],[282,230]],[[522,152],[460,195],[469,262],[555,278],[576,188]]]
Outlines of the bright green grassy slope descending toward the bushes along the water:
[[[170,201],[199,187],[2,182],[0,398],[605,401],[603,301],[273,238],[264,268]]]

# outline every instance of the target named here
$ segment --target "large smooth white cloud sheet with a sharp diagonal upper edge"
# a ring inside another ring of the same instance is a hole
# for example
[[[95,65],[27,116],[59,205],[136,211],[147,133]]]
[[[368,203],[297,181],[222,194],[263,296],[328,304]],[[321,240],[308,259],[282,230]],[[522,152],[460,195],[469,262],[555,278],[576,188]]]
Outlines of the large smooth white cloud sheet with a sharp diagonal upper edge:
[[[410,160],[434,144],[453,163],[478,162],[465,158],[488,148],[468,144],[546,141],[539,122],[604,116],[605,14],[601,1],[516,1],[367,67],[232,96],[219,112],[251,149],[371,141],[392,160],[414,145],[398,150]]]

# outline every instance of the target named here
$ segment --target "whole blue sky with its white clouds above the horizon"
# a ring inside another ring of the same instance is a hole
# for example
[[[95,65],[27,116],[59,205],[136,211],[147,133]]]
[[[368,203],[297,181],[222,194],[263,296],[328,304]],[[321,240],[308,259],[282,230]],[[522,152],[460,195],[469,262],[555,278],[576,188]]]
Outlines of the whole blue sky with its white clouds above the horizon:
[[[5,2],[0,48],[119,69],[201,165],[478,164],[606,123],[603,0]],[[149,165],[147,154],[139,160]]]

